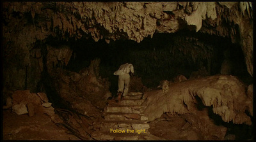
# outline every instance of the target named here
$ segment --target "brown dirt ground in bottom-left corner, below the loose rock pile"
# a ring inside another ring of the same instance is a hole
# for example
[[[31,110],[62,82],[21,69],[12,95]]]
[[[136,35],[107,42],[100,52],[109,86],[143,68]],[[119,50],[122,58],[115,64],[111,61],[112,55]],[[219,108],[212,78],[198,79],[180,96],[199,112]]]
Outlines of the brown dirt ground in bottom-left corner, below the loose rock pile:
[[[3,140],[81,140],[45,114],[16,115],[3,110]]]

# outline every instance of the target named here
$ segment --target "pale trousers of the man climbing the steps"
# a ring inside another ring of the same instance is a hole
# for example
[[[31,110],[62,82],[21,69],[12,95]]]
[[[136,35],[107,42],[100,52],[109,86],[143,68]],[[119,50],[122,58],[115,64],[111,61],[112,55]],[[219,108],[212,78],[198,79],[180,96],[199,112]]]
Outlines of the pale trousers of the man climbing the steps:
[[[124,92],[123,96],[126,96],[129,90],[130,75],[125,73],[118,76],[118,92]]]

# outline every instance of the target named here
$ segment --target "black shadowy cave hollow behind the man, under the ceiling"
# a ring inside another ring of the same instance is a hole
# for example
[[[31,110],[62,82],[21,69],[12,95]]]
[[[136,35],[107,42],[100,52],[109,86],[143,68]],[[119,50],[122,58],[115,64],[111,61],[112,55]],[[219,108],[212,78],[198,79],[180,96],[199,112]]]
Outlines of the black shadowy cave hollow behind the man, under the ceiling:
[[[66,69],[80,71],[88,67],[93,59],[100,59],[100,76],[111,82],[110,91],[115,94],[118,77],[113,73],[121,64],[134,66],[134,75],[142,79],[146,87],[156,87],[161,80],[172,80],[177,75],[189,78],[191,72],[205,67],[209,75],[220,73],[223,60],[231,60],[231,75],[251,82],[246,71],[244,56],[239,45],[227,38],[211,36],[195,31],[179,31],[174,34],[154,34],[141,43],[131,40],[111,41],[100,39],[69,41],[73,53]]]

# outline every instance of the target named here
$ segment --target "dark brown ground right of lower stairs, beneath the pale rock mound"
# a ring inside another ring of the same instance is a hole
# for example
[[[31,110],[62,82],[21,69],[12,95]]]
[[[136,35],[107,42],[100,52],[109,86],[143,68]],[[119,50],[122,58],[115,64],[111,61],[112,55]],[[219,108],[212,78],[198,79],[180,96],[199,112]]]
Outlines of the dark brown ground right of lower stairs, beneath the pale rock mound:
[[[216,125],[209,118],[208,108],[204,108],[194,114],[164,113],[150,122],[149,131],[167,140],[224,140],[227,127]]]

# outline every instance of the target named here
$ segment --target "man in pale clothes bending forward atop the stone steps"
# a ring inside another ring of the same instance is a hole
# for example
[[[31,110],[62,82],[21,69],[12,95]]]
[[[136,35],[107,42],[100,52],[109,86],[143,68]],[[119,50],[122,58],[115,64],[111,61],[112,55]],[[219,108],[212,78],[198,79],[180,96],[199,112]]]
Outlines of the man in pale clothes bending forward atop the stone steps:
[[[118,71],[115,71],[114,75],[118,75],[118,101],[121,101],[121,97],[128,93],[130,76],[133,76],[133,73],[133,66],[128,63],[122,64]]]

